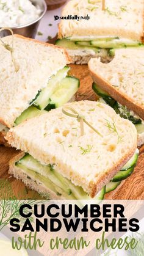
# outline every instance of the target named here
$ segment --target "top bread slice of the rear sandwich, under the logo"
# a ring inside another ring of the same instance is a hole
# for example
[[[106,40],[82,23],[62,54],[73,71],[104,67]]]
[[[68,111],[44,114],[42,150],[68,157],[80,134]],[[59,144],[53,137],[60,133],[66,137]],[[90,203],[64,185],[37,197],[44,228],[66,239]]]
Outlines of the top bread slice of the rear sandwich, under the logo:
[[[61,20],[59,38],[116,36],[132,40],[143,37],[143,0],[73,0],[64,7],[62,16],[90,16],[90,20]]]

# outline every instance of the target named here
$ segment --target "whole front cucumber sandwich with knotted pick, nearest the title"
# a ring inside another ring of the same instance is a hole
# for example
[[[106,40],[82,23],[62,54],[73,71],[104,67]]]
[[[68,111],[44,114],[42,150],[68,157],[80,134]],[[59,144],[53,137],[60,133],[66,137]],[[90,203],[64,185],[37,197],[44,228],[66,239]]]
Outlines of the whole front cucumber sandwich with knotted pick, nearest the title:
[[[97,101],[64,104],[10,128],[5,139],[22,151],[9,174],[51,199],[103,199],[139,155],[132,122]]]

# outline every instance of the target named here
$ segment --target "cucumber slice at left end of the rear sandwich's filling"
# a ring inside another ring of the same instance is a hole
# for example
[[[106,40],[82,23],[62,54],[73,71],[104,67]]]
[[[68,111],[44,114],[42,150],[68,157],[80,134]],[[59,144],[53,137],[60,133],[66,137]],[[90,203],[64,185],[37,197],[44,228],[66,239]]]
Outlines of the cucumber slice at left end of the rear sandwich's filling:
[[[76,50],[76,49],[93,50],[96,53],[99,51],[99,48],[93,47],[92,45],[90,45],[90,46],[78,45],[74,41],[67,40],[66,38],[58,39],[56,41],[56,45],[66,48],[66,49],[71,49],[71,50]]]

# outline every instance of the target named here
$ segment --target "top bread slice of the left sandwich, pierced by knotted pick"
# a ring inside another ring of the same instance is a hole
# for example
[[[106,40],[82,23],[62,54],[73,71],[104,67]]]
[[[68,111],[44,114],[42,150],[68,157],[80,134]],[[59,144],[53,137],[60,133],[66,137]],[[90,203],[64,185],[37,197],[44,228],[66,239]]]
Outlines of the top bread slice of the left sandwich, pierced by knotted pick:
[[[12,46],[12,36],[2,38]],[[12,62],[10,51],[0,43],[0,123],[14,125],[16,117],[29,107],[38,90],[48,85],[48,79],[69,62],[65,49],[34,39],[14,35]]]

